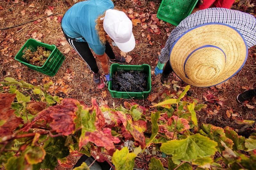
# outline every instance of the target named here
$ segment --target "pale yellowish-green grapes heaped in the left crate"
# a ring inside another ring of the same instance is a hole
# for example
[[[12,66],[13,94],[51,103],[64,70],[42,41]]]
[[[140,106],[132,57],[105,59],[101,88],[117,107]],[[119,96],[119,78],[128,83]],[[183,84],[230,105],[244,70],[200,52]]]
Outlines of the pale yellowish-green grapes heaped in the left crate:
[[[24,58],[29,64],[43,66],[50,55],[50,50],[45,49],[45,47],[37,46],[37,49],[34,52],[27,49],[24,55],[22,55],[22,58]]]

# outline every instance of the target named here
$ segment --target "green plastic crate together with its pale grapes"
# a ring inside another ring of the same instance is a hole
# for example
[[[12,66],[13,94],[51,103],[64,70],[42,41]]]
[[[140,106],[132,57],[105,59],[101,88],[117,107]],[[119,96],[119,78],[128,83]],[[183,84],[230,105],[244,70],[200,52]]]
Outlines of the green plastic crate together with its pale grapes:
[[[63,63],[65,56],[55,45],[28,39],[15,56],[15,60],[28,68],[54,76]]]

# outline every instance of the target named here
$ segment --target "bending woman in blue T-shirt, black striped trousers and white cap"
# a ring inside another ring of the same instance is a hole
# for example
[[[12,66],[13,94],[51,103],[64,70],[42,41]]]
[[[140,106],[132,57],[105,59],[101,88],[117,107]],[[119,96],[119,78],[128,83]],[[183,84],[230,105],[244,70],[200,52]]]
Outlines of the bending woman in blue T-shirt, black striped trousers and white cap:
[[[132,21],[123,11],[113,8],[111,0],[83,1],[69,8],[61,21],[66,40],[92,70],[96,84],[100,84],[102,79],[92,51],[100,60],[105,78],[109,81],[106,55],[112,63],[125,63],[125,58],[114,54],[108,40],[113,40],[124,52],[129,52],[135,47]]]

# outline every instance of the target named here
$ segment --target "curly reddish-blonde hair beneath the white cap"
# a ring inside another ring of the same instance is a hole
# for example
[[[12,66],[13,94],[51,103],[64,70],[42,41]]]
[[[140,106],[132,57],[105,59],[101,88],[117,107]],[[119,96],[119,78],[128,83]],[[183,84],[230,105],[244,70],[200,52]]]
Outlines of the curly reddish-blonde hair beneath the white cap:
[[[103,20],[100,20],[100,18],[104,17],[105,16],[105,12],[104,14],[100,15],[97,19],[96,19],[96,26],[95,26],[95,29],[97,30],[98,32],[98,36],[99,36],[99,39],[100,39],[100,42],[102,44],[106,44],[106,42],[110,39],[109,36],[107,36],[108,34],[105,32],[104,28],[103,28]]]

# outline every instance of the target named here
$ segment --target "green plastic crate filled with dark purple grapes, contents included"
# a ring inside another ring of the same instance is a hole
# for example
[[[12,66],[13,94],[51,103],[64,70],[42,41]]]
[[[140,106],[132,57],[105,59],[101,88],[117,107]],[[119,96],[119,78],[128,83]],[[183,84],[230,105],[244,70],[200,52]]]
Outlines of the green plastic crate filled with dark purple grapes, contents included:
[[[113,98],[147,99],[151,91],[150,65],[111,64],[108,90]]]

